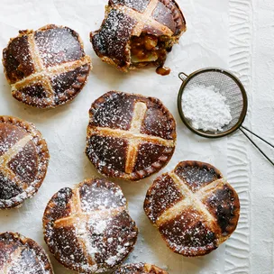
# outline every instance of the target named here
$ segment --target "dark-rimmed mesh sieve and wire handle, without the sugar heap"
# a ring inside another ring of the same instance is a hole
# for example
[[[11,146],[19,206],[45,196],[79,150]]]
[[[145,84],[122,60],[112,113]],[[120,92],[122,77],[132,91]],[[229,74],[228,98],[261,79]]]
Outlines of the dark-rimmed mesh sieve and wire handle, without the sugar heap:
[[[251,132],[246,127],[242,126],[242,123],[247,114],[248,98],[241,81],[236,78],[231,72],[224,70],[222,68],[204,68],[195,71],[194,73],[187,76],[184,72],[180,72],[178,77],[183,81],[182,86],[178,92],[178,113],[181,119],[186,124],[187,128],[196,134],[206,137],[206,138],[221,138],[227,136],[236,130],[240,129],[242,133],[252,142],[252,144],[263,154],[263,156],[269,160],[269,162],[274,166],[274,162],[269,159],[269,157],[260,150],[258,145],[251,140],[251,137],[247,134],[250,132],[261,141],[266,142],[269,146],[274,148],[274,146],[265,141],[259,135]],[[222,131],[217,132],[205,132],[203,130],[197,130],[191,124],[191,121],[187,120],[184,114],[184,105],[182,104],[182,97],[184,91],[191,86],[205,86],[205,87],[215,87],[222,96],[226,97],[225,104],[230,106],[231,115],[233,120],[228,125],[222,128]],[[244,132],[246,131],[246,132]]]

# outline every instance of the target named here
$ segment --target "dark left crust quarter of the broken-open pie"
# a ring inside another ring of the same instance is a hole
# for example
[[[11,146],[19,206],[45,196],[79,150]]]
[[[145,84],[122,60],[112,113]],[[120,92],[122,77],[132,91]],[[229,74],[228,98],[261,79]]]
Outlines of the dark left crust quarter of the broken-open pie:
[[[119,67],[130,61],[127,43],[137,22],[126,14],[111,10],[98,32],[91,33],[94,50],[99,57],[113,58]]]

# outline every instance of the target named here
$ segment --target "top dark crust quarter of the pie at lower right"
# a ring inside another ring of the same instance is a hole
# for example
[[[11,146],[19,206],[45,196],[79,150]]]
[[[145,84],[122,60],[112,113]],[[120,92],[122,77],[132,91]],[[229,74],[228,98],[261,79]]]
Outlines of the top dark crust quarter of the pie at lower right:
[[[175,169],[175,173],[186,182],[187,187],[193,192],[198,191],[201,187],[205,187],[219,178],[223,178],[221,172],[213,166],[196,161],[179,163]]]

